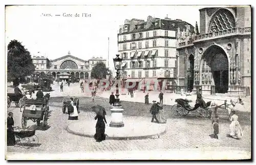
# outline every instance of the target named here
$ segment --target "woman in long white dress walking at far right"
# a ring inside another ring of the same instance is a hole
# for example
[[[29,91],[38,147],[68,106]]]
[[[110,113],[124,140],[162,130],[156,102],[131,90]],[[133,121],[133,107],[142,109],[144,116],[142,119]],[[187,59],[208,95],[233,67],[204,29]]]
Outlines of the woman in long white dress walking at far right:
[[[243,132],[241,126],[238,122],[238,115],[236,115],[236,111],[232,111],[233,115],[230,118],[231,124],[229,125],[230,128],[230,136],[233,138],[241,139],[243,136]]]

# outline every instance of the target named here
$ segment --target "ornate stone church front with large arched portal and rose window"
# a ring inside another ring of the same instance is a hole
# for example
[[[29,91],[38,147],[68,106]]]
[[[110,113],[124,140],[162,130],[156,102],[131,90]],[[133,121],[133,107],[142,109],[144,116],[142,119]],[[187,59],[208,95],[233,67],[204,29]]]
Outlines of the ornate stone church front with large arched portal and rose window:
[[[178,30],[178,85],[202,93],[249,95],[251,8],[200,9],[200,34]]]

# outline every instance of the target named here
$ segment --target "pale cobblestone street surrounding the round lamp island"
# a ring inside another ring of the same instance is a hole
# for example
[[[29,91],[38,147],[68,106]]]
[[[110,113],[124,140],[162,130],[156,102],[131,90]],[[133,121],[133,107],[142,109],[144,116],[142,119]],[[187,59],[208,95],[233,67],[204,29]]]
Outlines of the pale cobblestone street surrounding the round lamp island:
[[[95,142],[94,138],[83,137],[69,133],[66,128],[69,124],[76,121],[69,121],[68,114],[62,113],[62,99],[63,96],[79,98],[80,113],[79,120],[94,120],[95,113],[91,111],[90,107],[93,105],[102,105],[107,110],[106,120],[110,123],[110,106],[108,99],[96,98],[95,102],[91,102],[90,93],[83,95],[87,97],[81,97],[78,84],[71,84],[70,88],[65,86],[64,91],[60,93],[58,85],[53,85],[54,90],[51,92],[50,98],[50,111],[51,114],[48,119],[49,127],[43,129],[37,127],[36,135],[39,138],[39,146],[24,148],[19,145],[14,147],[8,146],[8,153],[67,153],[67,152],[118,152],[118,151],[168,151],[168,150],[193,150],[193,149],[220,149],[222,151],[229,150],[244,150],[250,151],[251,146],[251,130],[250,121],[241,122],[244,136],[241,140],[227,137],[229,133],[229,122],[220,122],[220,134],[219,139],[210,137],[212,132],[211,122],[209,119],[199,119],[195,114],[190,114],[186,117],[175,118],[169,116],[170,105],[164,106],[166,112],[167,124],[166,133],[158,137],[152,137],[147,139],[129,139],[129,140],[113,140],[106,139],[101,143]],[[77,94],[76,94],[77,93]],[[62,97],[56,97],[62,96]],[[124,109],[124,117],[133,116],[136,121],[141,118],[151,120],[151,114],[148,112],[150,106],[145,106],[143,103],[133,103],[122,101]],[[11,104],[10,108],[7,108],[8,112],[14,113],[15,126],[21,126],[22,112],[19,112],[19,108],[15,108],[14,104]],[[239,113],[238,113],[239,115]],[[242,112],[241,112],[242,115]],[[250,113],[243,113],[250,120]],[[34,125],[31,121],[28,125]],[[95,121],[96,124],[96,121]],[[86,125],[81,127],[87,127]],[[108,132],[106,132],[108,134]]]

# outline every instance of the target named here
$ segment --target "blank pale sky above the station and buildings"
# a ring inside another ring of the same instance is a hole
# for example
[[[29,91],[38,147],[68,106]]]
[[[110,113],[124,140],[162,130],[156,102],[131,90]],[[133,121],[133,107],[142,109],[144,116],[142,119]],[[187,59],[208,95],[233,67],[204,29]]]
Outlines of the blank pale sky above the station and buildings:
[[[117,34],[125,19],[182,19],[195,26],[205,6],[9,6],[6,8],[6,48],[16,39],[32,56],[56,59],[71,55],[88,60],[102,57],[110,67],[118,54]],[[75,14],[79,17],[75,17]],[[87,17],[82,17],[87,13]],[[45,16],[51,14],[51,16]],[[63,14],[72,14],[71,17]],[[89,15],[90,14],[90,15]],[[60,16],[55,16],[60,15]],[[200,28],[200,27],[199,27]],[[38,53],[39,52],[39,53]]]

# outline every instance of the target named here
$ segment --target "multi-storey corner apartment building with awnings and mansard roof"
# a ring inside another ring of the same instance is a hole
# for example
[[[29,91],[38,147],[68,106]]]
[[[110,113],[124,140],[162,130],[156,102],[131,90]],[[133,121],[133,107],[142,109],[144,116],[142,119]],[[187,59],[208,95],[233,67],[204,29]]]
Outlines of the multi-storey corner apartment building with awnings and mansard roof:
[[[123,79],[136,81],[167,80],[166,90],[177,77],[177,29],[189,32],[194,27],[180,19],[147,17],[125,20],[118,34],[118,52],[123,61]]]

